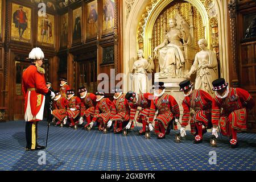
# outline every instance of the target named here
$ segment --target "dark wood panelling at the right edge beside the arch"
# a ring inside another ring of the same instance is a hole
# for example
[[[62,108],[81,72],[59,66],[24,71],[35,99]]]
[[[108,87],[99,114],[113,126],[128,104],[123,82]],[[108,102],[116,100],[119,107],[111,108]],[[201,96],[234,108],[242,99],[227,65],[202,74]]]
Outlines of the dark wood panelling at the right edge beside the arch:
[[[237,0],[233,13],[236,13],[234,17],[236,18],[236,34],[234,36],[237,52],[234,54],[237,57],[232,64],[235,64],[237,68],[237,86],[247,90],[256,101],[256,36],[246,36],[253,18],[256,18],[256,1]],[[248,129],[248,131],[256,132],[256,106],[249,111]]]

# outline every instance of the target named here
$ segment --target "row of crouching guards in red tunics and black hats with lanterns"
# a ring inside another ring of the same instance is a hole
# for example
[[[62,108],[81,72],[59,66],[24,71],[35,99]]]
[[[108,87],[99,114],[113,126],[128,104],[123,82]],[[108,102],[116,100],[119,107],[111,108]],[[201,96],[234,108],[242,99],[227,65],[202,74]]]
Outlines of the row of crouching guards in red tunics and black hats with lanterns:
[[[254,100],[246,90],[229,88],[224,78],[212,82],[213,90],[216,91],[214,98],[204,90],[193,89],[193,84],[185,80],[179,84],[180,91],[185,96],[180,122],[179,105],[174,97],[165,93],[164,82],[155,82],[154,94],[137,94],[133,91],[124,94],[120,88],[115,88],[112,102],[105,98],[105,93],[101,90],[93,94],[88,93],[85,87],[77,90],[80,94],[77,97],[75,91],[69,89],[67,79],[60,80],[62,87],[60,92],[55,92],[53,99],[55,109],[52,111],[52,122],[61,126],[69,122],[69,127],[85,123],[85,129],[98,126],[98,130],[103,133],[112,127],[115,134],[122,131],[126,133],[134,127],[137,108],[141,107],[136,120],[142,123],[138,135],[154,130],[158,139],[163,139],[171,129],[177,130],[177,123],[180,123],[180,133],[175,137],[176,142],[179,142],[180,137],[185,137],[185,127],[190,123],[191,134],[195,136],[193,143],[201,143],[203,134],[207,133],[207,129],[212,129],[211,144],[214,145],[220,125],[221,134],[230,137],[230,147],[235,148],[238,146],[237,131],[247,129],[247,113],[254,106]]]

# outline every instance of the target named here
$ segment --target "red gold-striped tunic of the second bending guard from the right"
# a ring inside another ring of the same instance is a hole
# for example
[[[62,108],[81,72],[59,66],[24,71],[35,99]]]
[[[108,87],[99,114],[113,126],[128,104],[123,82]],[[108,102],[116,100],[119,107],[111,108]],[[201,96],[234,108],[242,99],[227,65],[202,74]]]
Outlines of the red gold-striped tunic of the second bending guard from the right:
[[[191,134],[196,134],[195,122],[203,122],[203,125],[210,128],[210,112],[212,97],[204,90],[193,90],[182,102],[183,116],[181,126],[187,126],[189,122],[190,109],[195,110],[190,120]]]

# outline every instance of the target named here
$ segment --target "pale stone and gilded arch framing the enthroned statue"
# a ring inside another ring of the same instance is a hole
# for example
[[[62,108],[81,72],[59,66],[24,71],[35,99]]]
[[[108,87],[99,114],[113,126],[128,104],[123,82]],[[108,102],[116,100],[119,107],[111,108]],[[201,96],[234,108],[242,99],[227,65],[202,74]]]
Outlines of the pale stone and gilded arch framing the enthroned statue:
[[[146,56],[151,55],[152,30],[159,14],[171,2],[190,3],[201,15],[204,27],[204,36],[208,40],[208,48],[218,54],[220,60],[220,76],[229,80],[226,70],[228,68],[228,53],[226,47],[226,36],[228,36],[226,19],[226,2],[222,0],[140,0],[134,1],[129,13],[123,19],[124,32],[124,67],[123,72],[129,73],[130,67],[136,58],[138,48],[143,48]],[[214,6],[212,6],[214,4]],[[125,5],[124,5],[125,6]],[[153,22],[153,23],[152,23]],[[139,36],[142,35],[142,36]],[[134,37],[135,36],[135,37]],[[127,81],[128,77],[124,79]],[[124,88],[128,87],[125,82]],[[128,89],[128,88],[127,88]]]

